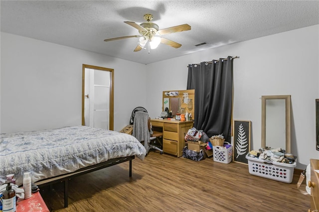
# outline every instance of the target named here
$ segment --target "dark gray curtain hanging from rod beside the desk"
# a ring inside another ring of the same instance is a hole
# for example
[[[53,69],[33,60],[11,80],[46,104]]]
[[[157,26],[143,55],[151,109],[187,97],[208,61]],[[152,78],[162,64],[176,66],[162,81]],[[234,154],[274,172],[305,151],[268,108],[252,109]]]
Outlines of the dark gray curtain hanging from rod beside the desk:
[[[231,142],[233,61],[219,59],[188,65],[187,89],[195,89],[194,127],[208,137],[223,134]]]

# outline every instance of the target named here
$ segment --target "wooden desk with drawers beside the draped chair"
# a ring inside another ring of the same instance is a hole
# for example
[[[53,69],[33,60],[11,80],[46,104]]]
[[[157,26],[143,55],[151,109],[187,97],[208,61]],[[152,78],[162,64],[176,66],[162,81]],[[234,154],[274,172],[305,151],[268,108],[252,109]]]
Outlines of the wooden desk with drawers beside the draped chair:
[[[181,157],[185,146],[184,137],[194,121],[178,121],[168,119],[151,119],[154,128],[160,127],[163,132],[163,152]]]

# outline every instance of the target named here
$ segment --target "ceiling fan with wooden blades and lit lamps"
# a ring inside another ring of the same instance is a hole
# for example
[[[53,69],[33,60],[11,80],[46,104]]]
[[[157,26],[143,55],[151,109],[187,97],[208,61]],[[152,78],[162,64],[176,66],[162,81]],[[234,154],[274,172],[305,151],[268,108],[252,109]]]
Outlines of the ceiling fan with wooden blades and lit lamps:
[[[169,45],[169,46],[174,47],[174,48],[179,48],[179,47],[181,47],[181,44],[176,43],[172,40],[168,40],[166,38],[160,37],[160,35],[190,30],[190,25],[188,25],[188,24],[172,26],[172,27],[168,27],[168,28],[159,30],[159,25],[154,23],[154,22],[151,22],[151,20],[153,19],[152,14],[145,14],[144,19],[146,20],[146,22],[143,22],[140,25],[133,22],[133,21],[124,21],[124,23],[127,23],[127,24],[133,26],[134,28],[137,28],[141,35],[115,37],[115,38],[105,39],[104,41],[112,41],[112,40],[119,40],[119,39],[131,38],[131,37],[139,37],[140,38],[139,43],[138,43],[137,47],[134,49],[135,52],[143,49],[148,41],[149,41],[149,45],[150,45],[151,49],[157,48],[160,43]]]

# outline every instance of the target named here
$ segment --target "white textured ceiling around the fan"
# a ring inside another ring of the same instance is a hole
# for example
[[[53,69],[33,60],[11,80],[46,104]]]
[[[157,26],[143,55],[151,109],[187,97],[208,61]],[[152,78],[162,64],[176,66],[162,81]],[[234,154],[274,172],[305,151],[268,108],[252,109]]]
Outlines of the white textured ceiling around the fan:
[[[2,32],[143,64],[319,24],[318,0],[1,0],[0,9]],[[133,52],[139,38],[104,42],[139,35],[123,21],[140,24],[146,13],[153,14],[160,29],[189,24],[189,31],[162,36],[182,46],[160,44],[149,53]]]

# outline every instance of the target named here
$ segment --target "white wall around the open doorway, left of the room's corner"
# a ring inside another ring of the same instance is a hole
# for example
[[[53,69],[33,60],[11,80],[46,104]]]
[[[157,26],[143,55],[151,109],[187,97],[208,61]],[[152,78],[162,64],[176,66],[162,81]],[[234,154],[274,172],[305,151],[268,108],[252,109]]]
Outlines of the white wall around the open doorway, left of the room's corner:
[[[146,104],[145,65],[1,32],[1,133],[81,125],[82,64],[114,69],[114,130]],[[125,77],[124,77],[125,76]]]

